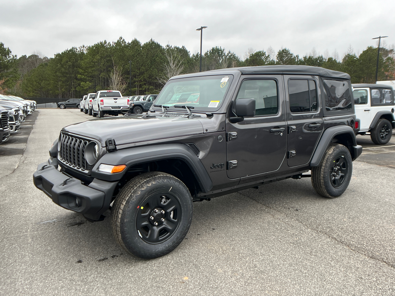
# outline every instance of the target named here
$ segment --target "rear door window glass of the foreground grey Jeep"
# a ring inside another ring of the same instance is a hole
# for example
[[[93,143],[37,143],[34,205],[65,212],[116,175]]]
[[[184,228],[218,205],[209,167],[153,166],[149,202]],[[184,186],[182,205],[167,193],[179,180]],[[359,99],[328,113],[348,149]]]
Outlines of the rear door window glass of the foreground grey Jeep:
[[[290,79],[288,92],[292,113],[317,111],[317,90],[314,80]]]

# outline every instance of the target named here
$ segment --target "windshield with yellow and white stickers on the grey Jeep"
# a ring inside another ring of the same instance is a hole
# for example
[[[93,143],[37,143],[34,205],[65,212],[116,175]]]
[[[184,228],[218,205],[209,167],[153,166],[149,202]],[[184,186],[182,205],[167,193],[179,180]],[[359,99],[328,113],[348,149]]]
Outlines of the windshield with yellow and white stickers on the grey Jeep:
[[[232,79],[232,75],[213,75],[170,80],[156,98],[155,105],[171,109],[174,105],[188,105],[194,107],[194,111],[216,111]]]

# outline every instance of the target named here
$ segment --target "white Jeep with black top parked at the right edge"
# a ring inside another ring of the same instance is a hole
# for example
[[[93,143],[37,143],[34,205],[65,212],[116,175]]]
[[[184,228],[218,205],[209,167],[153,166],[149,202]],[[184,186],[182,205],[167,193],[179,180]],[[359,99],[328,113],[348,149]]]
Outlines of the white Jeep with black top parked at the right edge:
[[[355,115],[360,120],[358,135],[370,133],[374,144],[389,142],[395,128],[394,91],[384,84],[352,84]]]

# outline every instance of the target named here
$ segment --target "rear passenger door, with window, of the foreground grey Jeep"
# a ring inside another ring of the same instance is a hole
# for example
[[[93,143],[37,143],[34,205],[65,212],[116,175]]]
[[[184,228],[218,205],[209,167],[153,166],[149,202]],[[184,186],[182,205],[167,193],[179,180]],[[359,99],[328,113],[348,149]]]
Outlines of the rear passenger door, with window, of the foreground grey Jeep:
[[[324,130],[323,111],[318,100],[318,77],[284,75],[287,105],[287,162],[289,167],[305,165]]]

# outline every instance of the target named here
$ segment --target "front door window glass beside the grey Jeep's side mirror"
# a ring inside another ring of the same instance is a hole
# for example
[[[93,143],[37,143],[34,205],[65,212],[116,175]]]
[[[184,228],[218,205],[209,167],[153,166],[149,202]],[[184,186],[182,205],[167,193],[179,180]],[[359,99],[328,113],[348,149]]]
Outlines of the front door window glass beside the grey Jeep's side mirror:
[[[278,112],[277,82],[275,80],[245,80],[236,99],[254,98],[255,115],[271,115]]]

